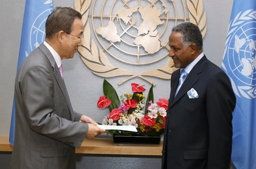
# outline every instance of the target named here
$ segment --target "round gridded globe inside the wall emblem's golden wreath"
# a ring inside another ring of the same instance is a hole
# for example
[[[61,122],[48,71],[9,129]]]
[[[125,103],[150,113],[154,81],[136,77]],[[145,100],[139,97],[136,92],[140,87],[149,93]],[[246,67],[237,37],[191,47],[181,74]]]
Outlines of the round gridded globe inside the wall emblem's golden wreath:
[[[109,7],[110,6],[110,7]],[[171,28],[186,21],[183,1],[94,1],[92,27],[104,51],[133,65],[158,62],[168,56]],[[167,27],[169,29],[167,29]]]

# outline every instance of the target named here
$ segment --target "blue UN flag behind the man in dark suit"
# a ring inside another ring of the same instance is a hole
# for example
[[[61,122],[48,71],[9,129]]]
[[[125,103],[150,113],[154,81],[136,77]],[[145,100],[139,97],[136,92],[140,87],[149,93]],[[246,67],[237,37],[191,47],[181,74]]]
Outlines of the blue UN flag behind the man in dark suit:
[[[231,160],[256,168],[256,1],[234,0],[222,69],[237,96]]]

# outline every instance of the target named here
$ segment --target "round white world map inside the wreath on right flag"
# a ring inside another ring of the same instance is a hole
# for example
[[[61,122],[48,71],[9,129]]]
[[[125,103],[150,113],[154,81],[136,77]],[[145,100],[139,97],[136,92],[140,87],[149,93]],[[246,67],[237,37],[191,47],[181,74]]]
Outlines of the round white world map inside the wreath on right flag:
[[[229,66],[233,75],[242,84],[255,85],[256,81],[256,28],[247,22],[237,28],[229,43]]]

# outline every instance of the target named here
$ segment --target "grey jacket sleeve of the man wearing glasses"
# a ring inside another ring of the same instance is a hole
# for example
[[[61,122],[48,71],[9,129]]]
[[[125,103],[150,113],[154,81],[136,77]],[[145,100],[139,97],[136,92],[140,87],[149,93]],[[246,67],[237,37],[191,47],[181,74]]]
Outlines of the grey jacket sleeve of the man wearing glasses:
[[[77,122],[81,117],[77,113],[75,122],[70,119],[66,98],[52,69],[45,65],[30,67],[19,82],[19,90],[23,113],[32,131],[71,146],[81,146],[88,124]]]

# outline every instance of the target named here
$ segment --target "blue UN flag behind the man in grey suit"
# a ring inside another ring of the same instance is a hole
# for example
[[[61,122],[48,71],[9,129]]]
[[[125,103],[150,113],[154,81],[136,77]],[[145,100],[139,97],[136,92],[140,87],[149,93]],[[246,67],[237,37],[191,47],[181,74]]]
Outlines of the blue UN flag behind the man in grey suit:
[[[21,42],[19,47],[18,66],[23,60],[45,40],[45,21],[53,11],[53,0],[26,0]],[[14,145],[15,133],[15,99],[12,105],[10,123],[10,144]]]

